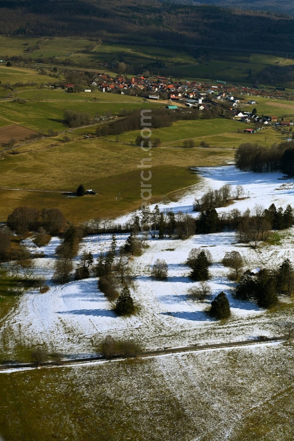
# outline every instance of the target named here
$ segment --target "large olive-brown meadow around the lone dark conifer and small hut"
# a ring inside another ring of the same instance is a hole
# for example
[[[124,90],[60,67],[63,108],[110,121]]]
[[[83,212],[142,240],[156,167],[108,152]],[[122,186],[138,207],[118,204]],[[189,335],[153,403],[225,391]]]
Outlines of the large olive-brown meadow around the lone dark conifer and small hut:
[[[7,156],[1,161],[2,187],[73,191],[82,182],[98,194],[96,197],[66,198],[60,193],[0,190],[0,198],[5,201],[0,207],[0,219],[4,220],[12,208],[20,205],[56,206],[74,221],[125,213],[139,206],[140,170],[137,164],[145,156],[139,147],[90,139],[57,146],[51,154],[41,150]],[[157,200],[170,191],[196,183],[196,176],[189,171],[193,165],[217,165],[232,157],[233,152],[226,150],[154,149],[152,194]],[[117,201],[119,192],[121,200]]]

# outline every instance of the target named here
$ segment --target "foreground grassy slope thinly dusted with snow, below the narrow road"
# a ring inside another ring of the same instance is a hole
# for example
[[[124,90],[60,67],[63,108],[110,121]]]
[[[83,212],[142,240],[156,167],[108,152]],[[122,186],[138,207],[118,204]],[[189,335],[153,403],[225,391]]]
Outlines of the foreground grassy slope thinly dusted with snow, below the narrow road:
[[[0,374],[0,431],[24,441],[292,441],[292,363],[288,344]]]

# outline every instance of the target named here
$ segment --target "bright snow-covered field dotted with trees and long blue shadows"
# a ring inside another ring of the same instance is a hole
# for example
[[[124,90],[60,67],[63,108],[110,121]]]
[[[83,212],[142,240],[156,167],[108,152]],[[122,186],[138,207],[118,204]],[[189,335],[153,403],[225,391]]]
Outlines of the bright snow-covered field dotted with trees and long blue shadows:
[[[219,211],[233,207],[244,211],[248,207],[252,209],[256,203],[264,208],[268,208],[271,203],[275,203],[277,208],[285,208],[288,203],[294,205],[294,182],[279,180],[281,173],[241,172],[230,165],[202,168],[200,174],[203,176],[202,181],[192,187],[186,196],[177,202],[160,205],[160,209],[172,208],[175,212],[183,211],[197,216],[197,213],[192,212],[195,197],[201,197],[209,187],[219,188],[225,183],[233,187],[241,184],[246,198]],[[121,217],[118,221],[123,223],[130,216]],[[11,344],[19,339],[45,341],[49,348],[68,355],[81,355],[90,353],[93,341],[106,334],[134,338],[141,341],[146,349],[279,334],[279,329],[264,310],[253,303],[234,299],[234,284],[228,280],[228,269],[220,261],[225,252],[230,250],[238,250],[248,268],[278,265],[286,257],[293,260],[292,228],[284,233],[282,245],[263,245],[256,250],[236,243],[234,232],[194,235],[185,241],[150,239],[149,248],[131,262],[132,272],[136,276],[132,295],[139,306],[139,312],[129,318],[115,316],[111,310],[112,304],[99,292],[94,277],[65,285],[52,283],[54,250],[60,243],[59,239],[53,238],[48,246],[38,249],[44,252],[44,258],[34,261],[35,270],[48,279],[50,290],[45,294],[33,292],[22,296],[18,310],[8,323]],[[117,235],[117,247],[125,242],[127,236]],[[88,236],[81,243],[79,253],[83,250],[91,251],[96,260],[102,251],[109,249],[110,241],[111,236],[108,234]],[[187,297],[193,282],[188,277],[190,269],[185,261],[189,251],[198,247],[208,247],[213,258],[212,278],[209,281],[212,295],[204,303],[192,303]],[[168,264],[166,281],[150,278],[151,265],[157,258],[166,260]],[[211,299],[220,291],[226,292],[232,312],[232,317],[225,325],[212,320],[205,313]],[[276,318],[278,321],[279,313]],[[5,328],[0,332],[5,333]]]

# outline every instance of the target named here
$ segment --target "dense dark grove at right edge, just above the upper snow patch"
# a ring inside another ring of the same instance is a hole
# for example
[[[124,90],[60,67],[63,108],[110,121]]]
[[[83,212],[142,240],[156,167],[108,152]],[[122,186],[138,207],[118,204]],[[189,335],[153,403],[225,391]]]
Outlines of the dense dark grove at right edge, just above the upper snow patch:
[[[294,175],[294,141],[281,142],[270,148],[258,144],[241,144],[235,154],[240,170],[252,172],[277,172]]]

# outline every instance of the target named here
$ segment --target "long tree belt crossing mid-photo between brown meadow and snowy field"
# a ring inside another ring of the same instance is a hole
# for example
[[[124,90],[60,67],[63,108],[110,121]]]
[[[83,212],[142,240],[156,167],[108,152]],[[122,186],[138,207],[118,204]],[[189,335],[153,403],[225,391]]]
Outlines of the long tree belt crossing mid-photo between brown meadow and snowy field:
[[[226,186],[224,186],[226,187]],[[209,191],[204,197],[197,201],[197,208],[200,206],[220,205],[228,201],[230,188],[222,187],[217,192]],[[240,189],[236,189],[239,197]],[[217,195],[217,197],[216,197]],[[218,199],[220,198],[220,199]],[[122,226],[114,224],[111,219],[93,219],[92,221],[74,227],[68,224],[59,209],[42,209],[33,207],[18,207],[8,216],[7,226],[0,229],[1,245],[0,260],[5,261],[11,253],[12,232],[24,234],[26,232],[37,232],[36,240],[41,243],[46,234],[65,235],[74,228],[78,238],[88,234],[106,232],[131,232],[128,238],[128,247],[131,254],[136,253],[138,248],[136,235],[143,231],[145,235],[164,237],[177,237],[185,239],[196,233],[215,233],[225,229],[235,229],[239,240],[243,243],[251,243],[254,247],[259,241],[268,239],[269,231],[272,229],[282,230],[293,224],[293,208],[288,205],[284,210],[278,209],[274,204],[268,209],[255,205],[252,210],[245,210],[241,213],[238,209],[229,212],[217,213],[215,208],[201,209],[199,216],[195,219],[188,213],[172,210],[160,211],[158,205],[151,212],[150,207],[143,207],[140,214],[134,214],[132,218]],[[73,239],[71,239],[73,241]],[[72,247],[73,248],[73,247]]]

